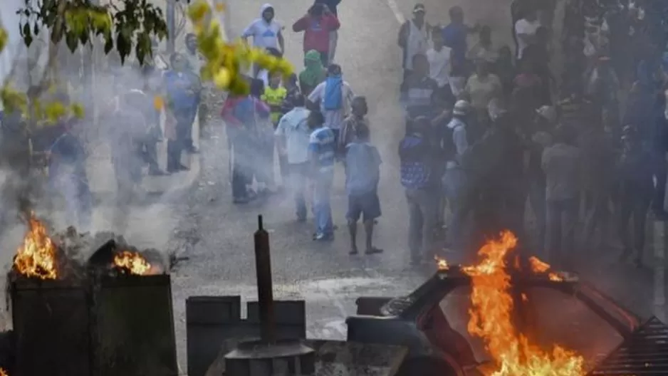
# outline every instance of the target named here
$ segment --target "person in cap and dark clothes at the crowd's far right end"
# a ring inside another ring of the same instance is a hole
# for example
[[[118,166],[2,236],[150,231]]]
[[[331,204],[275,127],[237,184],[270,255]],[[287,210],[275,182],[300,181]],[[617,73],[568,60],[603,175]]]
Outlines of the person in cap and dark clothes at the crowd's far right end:
[[[642,265],[647,211],[652,202],[652,154],[642,145],[642,135],[633,125],[622,128],[620,170],[620,223],[622,259],[633,257]],[[633,238],[629,236],[629,221],[633,220]]]

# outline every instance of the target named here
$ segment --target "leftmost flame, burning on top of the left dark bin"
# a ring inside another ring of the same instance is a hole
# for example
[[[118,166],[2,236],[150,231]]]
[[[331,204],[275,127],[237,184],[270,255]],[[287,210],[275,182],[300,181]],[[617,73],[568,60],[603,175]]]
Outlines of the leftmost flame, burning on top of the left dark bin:
[[[26,277],[56,279],[56,244],[34,213],[28,219],[28,231],[14,256],[14,268]],[[0,375],[2,375],[0,373]]]

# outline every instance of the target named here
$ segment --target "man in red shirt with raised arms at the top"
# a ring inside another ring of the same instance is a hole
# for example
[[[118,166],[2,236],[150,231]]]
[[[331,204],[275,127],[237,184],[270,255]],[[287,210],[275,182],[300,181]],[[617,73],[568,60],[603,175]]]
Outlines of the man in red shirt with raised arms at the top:
[[[336,16],[324,4],[314,4],[308,14],[298,19],[292,26],[293,31],[304,32],[304,53],[315,50],[320,53],[324,66],[329,65],[330,33],[338,30],[340,23]]]

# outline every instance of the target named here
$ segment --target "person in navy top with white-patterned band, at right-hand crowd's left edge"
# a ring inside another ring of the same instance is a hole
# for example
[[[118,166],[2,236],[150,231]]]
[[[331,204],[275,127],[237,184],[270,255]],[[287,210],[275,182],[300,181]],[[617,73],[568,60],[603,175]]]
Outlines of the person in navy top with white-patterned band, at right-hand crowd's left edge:
[[[401,183],[408,200],[408,248],[412,265],[434,257],[439,177],[433,166],[434,154],[438,151],[426,137],[430,127],[428,117],[415,118],[409,133],[399,144]]]

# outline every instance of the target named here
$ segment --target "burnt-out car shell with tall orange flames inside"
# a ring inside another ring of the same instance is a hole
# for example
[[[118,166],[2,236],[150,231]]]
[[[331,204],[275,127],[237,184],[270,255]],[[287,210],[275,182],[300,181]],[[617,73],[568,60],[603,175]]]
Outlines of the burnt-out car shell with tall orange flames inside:
[[[474,266],[439,270],[399,298],[359,298],[348,340],[405,345],[398,375],[668,375],[668,327],[577,276],[520,263],[504,233]],[[663,354],[663,355],[661,355]]]

